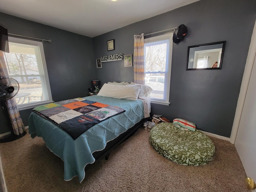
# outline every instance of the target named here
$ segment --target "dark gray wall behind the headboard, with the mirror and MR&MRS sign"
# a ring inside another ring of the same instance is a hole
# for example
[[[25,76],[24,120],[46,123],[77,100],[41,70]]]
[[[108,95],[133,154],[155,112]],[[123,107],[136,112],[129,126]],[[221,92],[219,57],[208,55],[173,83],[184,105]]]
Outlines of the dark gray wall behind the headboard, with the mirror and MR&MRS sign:
[[[93,38],[94,60],[112,54],[133,54],[133,35],[185,24],[188,33],[173,45],[170,105],[152,104],[153,114],[184,118],[199,130],[230,137],[244,67],[256,18],[255,0],[200,0],[170,12]],[[115,50],[107,41],[115,39]],[[186,70],[188,46],[226,41],[221,70]],[[133,67],[104,62],[96,69],[102,84],[133,81]]]

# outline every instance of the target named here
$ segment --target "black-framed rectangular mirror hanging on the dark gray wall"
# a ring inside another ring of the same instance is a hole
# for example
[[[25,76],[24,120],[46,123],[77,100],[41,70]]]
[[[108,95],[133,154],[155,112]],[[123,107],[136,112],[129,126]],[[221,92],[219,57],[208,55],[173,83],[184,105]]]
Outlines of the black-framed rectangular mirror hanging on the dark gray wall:
[[[226,41],[188,47],[186,70],[221,69]]]

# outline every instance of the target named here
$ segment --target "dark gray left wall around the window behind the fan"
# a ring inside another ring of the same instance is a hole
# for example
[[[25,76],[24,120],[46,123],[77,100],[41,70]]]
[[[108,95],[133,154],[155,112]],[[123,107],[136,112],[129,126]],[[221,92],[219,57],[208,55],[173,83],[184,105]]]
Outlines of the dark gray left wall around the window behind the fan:
[[[87,96],[91,80],[96,78],[92,38],[3,13],[0,24],[11,34],[52,40],[43,45],[54,101]],[[25,126],[30,112],[20,111]],[[1,121],[3,118],[0,114]],[[3,132],[1,128],[0,134]]]

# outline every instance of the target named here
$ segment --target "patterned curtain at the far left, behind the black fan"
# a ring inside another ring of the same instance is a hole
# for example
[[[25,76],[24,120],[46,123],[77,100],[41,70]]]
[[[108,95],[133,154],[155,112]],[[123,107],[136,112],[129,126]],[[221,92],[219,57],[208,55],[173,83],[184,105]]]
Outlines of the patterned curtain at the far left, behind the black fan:
[[[4,54],[0,51],[0,79],[8,77],[8,72],[6,69],[6,64],[4,62]],[[20,113],[17,108],[17,103],[14,98],[8,99],[6,101],[8,107],[8,113],[10,120],[12,122],[13,132],[16,135],[22,134],[26,129],[20,118]]]

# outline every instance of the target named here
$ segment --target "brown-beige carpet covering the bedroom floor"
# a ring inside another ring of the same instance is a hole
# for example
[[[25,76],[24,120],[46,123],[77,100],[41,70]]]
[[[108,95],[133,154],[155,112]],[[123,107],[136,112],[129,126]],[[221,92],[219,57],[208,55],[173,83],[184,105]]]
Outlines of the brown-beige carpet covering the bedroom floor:
[[[248,192],[246,174],[234,145],[211,138],[213,160],[204,166],[182,166],[160,156],[140,128],[108,160],[86,168],[80,184],[64,181],[64,163],[42,138],[30,135],[0,144],[8,192]]]

